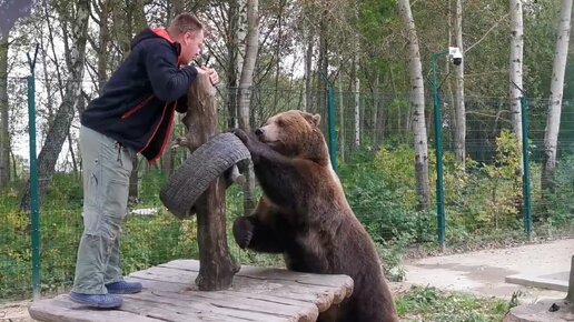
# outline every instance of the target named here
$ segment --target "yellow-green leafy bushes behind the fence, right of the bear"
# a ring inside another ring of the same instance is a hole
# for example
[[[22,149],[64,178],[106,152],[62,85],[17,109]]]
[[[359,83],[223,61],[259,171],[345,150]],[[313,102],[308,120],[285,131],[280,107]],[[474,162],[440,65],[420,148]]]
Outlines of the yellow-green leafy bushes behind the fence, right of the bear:
[[[478,163],[466,160],[463,169],[452,152],[443,155],[445,209],[447,214],[447,239],[449,243],[464,243],[471,234],[492,229],[516,229],[521,223],[522,180],[519,177],[521,145],[508,131],[502,131],[496,138],[494,160]],[[389,209],[400,222],[388,220],[395,229],[394,237],[407,233],[413,237],[434,235],[434,217],[419,213],[413,217],[416,207],[415,173],[413,170],[414,149],[406,144],[385,144],[374,158],[374,168],[356,165],[344,182],[349,184],[352,200],[358,203],[384,199],[387,202],[376,204],[377,210]],[[436,157],[429,150],[429,182],[436,181]],[[369,170],[367,170],[367,168]],[[370,171],[370,172],[369,172]],[[350,181],[349,181],[350,178]],[[533,180],[536,175],[533,175]],[[434,185],[432,187],[434,188]],[[433,201],[435,190],[432,189]],[[365,198],[366,197],[366,198]],[[434,208],[432,212],[434,213]],[[360,211],[358,211],[362,213]],[[410,214],[410,215],[409,215]],[[405,218],[416,218],[412,221]],[[412,224],[412,225],[409,225]],[[366,223],[369,227],[369,222]],[[417,230],[424,227],[425,230]],[[376,230],[370,232],[377,234]],[[427,239],[428,240],[428,239]]]

